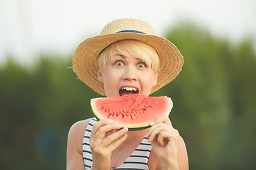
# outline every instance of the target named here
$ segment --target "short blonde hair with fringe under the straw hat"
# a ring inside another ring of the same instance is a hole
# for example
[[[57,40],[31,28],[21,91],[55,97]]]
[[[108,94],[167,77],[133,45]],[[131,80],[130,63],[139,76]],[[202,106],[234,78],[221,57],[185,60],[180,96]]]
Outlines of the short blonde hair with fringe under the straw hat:
[[[102,50],[97,59],[100,71],[110,62],[114,50],[121,53],[129,52],[130,55],[143,60],[148,66],[151,66],[155,73],[159,70],[159,56],[153,47],[139,40],[119,40]]]

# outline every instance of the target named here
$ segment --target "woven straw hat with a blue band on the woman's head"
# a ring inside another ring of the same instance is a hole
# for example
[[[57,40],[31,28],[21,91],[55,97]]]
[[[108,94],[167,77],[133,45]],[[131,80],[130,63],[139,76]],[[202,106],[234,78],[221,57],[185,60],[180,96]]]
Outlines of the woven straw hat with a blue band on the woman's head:
[[[75,50],[73,70],[78,78],[98,94],[105,96],[104,86],[97,80],[97,57],[108,45],[118,40],[140,40],[151,45],[159,55],[160,69],[156,86],[151,94],[169,84],[183,65],[183,57],[169,40],[156,35],[148,23],[133,18],[121,18],[112,21],[103,28],[100,35],[87,38]]]

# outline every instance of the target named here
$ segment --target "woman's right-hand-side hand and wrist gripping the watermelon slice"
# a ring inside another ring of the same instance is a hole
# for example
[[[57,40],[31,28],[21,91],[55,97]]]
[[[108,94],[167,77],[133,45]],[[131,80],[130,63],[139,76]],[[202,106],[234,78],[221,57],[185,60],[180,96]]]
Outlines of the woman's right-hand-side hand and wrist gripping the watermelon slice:
[[[178,130],[174,129],[167,115],[150,123],[146,138],[161,162],[161,169],[178,169]]]

